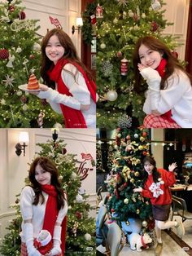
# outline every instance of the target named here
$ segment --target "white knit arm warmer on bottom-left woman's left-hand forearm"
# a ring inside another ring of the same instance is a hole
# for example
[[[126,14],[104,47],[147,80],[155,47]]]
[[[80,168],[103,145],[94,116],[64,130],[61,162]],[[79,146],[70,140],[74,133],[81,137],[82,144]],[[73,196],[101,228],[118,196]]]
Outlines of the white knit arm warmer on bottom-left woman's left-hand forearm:
[[[24,223],[22,232],[28,250],[28,256],[41,256],[40,252],[33,245],[33,225],[32,223]]]

